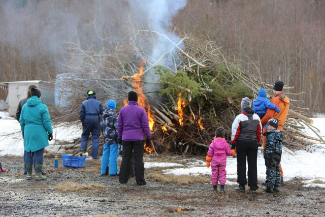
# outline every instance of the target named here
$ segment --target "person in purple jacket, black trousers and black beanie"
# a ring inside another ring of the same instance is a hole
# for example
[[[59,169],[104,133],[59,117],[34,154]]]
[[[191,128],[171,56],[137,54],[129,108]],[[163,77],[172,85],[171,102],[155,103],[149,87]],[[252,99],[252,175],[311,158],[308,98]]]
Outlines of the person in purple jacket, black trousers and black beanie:
[[[138,106],[138,95],[128,92],[128,105],[118,115],[118,143],[123,145],[122,163],[120,167],[120,183],[126,183],[129,177],[130,162],[134,151],[135,173],[138,185],[145,185],[144,178],[144,142],[151,143],[149,119],[144,108]]]

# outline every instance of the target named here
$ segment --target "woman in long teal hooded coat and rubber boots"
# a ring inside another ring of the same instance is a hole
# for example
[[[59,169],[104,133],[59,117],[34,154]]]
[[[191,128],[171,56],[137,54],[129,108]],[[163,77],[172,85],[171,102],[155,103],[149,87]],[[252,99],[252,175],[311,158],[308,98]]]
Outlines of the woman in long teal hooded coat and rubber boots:
[[[46,179],[42,175],[44,148],[53,138],[51,118],[47,106],[42,103],[41,91],[31,88],[31,97],[22,107],[19,122],[24,139],[25,163],[27,169],[26,179],[31,179],[32,161],[36,158],[36,180]],[[35,157],[34,157],[35,156]]]

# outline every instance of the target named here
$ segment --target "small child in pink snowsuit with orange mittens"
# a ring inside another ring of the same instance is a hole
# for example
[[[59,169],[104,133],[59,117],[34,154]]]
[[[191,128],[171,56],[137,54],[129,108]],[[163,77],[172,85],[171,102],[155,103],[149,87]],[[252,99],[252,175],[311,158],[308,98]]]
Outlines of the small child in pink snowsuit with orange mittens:
[[[206,157],[207,167],[210,167],[211,162],[211,183],[213,190],[217,191],[218,181],[220,182],[220,192],[224,193],[225,166],[227,164],[227,156],[234,156],[235,150],[231,150],[228,142],[224,139],[224,130],[218,127],[215,132],[215,138],[210,144]]]

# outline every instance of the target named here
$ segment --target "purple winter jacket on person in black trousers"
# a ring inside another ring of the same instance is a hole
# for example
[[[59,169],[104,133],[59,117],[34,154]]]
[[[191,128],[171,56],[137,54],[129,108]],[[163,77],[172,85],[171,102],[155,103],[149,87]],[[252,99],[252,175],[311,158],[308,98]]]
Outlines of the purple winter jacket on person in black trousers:
[[[145,135],[151,138],[148,115],[137,102],[129,101],[128,105],[120,110],[117,123],[117,135],[122,140],[145,140]]]

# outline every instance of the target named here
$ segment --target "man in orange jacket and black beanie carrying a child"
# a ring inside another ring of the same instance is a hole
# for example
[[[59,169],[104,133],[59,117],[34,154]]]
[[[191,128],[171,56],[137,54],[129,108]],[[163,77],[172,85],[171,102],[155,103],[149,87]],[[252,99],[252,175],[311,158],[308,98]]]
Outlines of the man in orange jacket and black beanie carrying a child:
[[[266,124],[273,117],[277,117],[279,119],[278,129],[279,129],[279,131],[282,132],[282,127],[286,120],[286,116],[288,114],[288,110],[289,110],[289,106],[290,106],[289,98],[282,91],[283,86],[284,86],[284,84],[282,81],[275,81],[273,84],[272,89],[273,89],[274,97],[272,98],[271,103],[275,104],[281,111],[279,113],[277,113],[277,112],[275,112],[275,110],[267,109],[266,114],[264,115],[264,117],[261,120],[261,123],[264,126],[263,134],[268,131],[266,128]],[[263,137],[263,148],[264,149],[265,149],[265,142],[266,142],[266,136]],[[282,183],[283,182],[283,171],[282,171],[281,164],[279,164],[279,166],[280,166],[280,170],[281,170],[281,183]]]

